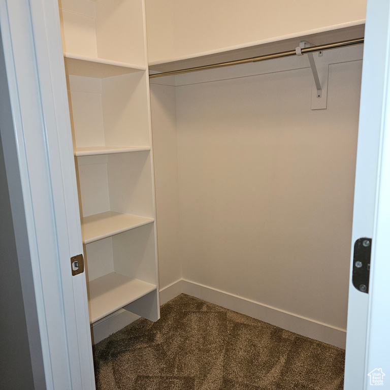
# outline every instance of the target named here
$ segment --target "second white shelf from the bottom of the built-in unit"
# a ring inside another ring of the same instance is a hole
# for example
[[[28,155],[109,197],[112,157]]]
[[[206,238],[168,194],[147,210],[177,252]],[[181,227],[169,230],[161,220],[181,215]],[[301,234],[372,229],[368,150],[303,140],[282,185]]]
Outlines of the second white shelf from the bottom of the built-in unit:
[[[89,244],[152,223],[154,218],[106,211],[82,219],[83,241]]]

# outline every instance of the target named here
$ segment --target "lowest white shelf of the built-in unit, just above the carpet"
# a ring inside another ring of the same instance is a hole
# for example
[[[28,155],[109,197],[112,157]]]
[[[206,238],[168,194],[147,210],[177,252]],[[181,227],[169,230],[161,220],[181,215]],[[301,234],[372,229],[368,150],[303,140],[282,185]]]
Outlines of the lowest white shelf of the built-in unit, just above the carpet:
[[[91,323],[154,291],[156,286],[111,272],[89,282]]]

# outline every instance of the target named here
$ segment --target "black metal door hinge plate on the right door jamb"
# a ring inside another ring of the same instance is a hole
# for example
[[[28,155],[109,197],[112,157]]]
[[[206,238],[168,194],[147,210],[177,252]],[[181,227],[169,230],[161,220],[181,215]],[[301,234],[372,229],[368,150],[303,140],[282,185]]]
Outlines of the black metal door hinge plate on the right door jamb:
[[[353,248],[352,284],[366,294],[370,281],[371,246],[372,239],[364,237],[356,240]]]

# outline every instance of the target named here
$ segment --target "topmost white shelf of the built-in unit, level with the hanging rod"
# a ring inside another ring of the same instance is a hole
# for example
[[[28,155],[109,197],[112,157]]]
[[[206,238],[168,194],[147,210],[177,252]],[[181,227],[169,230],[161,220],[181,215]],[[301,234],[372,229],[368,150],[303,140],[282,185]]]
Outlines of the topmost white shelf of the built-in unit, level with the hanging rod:
[[[103,58],[86,57],[72,53],[64,53],[64,57],[66,73],[73,76],[102,79],[146,70],[146,67],[141,65],[111,61]]]

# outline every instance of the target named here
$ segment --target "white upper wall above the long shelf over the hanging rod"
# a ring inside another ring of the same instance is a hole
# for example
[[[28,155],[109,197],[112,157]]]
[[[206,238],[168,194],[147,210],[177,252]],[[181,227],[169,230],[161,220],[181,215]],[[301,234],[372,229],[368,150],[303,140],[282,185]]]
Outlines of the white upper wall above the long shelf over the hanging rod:
[[[366,0],[146,0],[149,62],[364,23]]]

